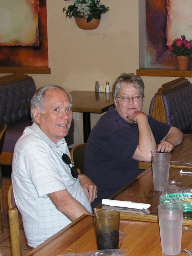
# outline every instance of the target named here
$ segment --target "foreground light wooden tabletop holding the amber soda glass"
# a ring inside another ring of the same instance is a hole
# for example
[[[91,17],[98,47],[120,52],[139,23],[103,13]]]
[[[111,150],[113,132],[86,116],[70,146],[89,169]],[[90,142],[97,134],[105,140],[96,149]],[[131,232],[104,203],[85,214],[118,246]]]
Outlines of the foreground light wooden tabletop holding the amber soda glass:
[[[145,221],[120,219],[120,230],[126,234],[121,249],[125,256],[162,256],[159,224]],[[181,253],[187,256],[185,248],[192,250],[192,226],[183,226]],[[76,221],[37,246],[25,256],[56,256],[64,253],[96,251],[93,215],[82,215]]]

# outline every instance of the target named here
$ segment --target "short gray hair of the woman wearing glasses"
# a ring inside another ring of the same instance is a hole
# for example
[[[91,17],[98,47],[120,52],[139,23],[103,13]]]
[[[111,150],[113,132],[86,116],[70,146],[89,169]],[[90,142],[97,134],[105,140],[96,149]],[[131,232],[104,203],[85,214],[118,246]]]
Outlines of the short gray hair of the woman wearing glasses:
[[[116,99],[119,91],[123,89],[126,84],[130,84],[135,88],[138,88],[141,92],[141,96],[145,97],[144,95],[144,88],[145,85],[143,83],[143,80],[140,78],[140,76],[136,76],[134,74],[126,74],[122,73],[115,81],[114,83],[114,93],[113,97]]]

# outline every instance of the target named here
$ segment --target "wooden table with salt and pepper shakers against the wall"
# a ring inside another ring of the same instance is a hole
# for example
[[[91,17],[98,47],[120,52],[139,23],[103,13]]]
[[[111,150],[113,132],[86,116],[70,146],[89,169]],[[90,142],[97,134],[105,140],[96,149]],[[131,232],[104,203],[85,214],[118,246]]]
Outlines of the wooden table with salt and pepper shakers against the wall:
[[[87,142],[91,131],[90,113],[101,114],[113,106],[113,93],[72,91],[72,111],[83,113],[84,143]]]

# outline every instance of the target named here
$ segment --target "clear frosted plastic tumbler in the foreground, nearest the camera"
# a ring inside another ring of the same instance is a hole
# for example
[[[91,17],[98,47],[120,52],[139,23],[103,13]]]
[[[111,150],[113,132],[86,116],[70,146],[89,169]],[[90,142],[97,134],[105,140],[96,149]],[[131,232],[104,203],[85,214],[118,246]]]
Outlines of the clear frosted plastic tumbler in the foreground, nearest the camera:
[[[181,251],[183,205],[164,203],[158,206],[161,249],[166,255]]]

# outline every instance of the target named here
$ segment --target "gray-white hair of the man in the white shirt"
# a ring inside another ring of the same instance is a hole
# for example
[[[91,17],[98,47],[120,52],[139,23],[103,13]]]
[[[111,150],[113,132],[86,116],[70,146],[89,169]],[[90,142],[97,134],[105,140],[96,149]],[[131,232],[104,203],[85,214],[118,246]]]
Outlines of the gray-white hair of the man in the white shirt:
[[[65,89],[60,87],[59,85],[54,85],[54,84],[50,84],[50,85],[45,85],[41,88],[39,88],[33,95],[32,99],[31,99],[31,119],[34,122],[34,118],[33,118],[33,108],[37,108],[41,113],[44,114],[44,96],[45,96],[45,92],[51,89],[60,89],[63,90],[64,92]],[[69,96],[69,100],[70,103],[72,103],[72,97],[71,94],[66,92]]]

